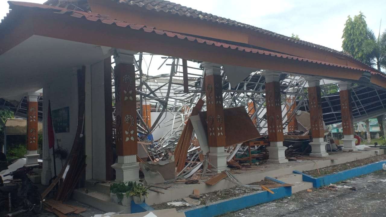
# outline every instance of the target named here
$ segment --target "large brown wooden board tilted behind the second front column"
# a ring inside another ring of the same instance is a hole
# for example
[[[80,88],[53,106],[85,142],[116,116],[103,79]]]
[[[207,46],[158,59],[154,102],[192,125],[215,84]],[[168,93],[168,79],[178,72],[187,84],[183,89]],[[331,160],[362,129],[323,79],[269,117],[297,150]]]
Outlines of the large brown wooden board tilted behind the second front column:
[[[207,113],[200,112],[200,119],[206,128]],[[226,147],[261,137],[244,107],[225,108],[224,123]]]

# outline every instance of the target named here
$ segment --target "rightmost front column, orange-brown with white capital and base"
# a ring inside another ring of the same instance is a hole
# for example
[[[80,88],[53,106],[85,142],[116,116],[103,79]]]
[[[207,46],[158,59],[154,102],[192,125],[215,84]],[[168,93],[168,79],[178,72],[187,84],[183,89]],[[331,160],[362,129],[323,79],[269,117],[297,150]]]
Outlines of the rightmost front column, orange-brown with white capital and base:
[[[342,114],[342,128],[343,128],[343,151],[356,151],[354,139],[354,127],[352,124],[352,108],[351,108],[351,94],[350,83],[339,83],[340,95],[340,110]]]

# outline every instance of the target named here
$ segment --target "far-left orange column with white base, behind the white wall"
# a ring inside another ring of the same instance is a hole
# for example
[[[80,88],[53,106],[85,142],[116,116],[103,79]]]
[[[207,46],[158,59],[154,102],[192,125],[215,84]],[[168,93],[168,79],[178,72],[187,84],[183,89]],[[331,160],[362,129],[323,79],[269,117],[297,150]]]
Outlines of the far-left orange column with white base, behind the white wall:
[[[27,110],[27,161],[25,166],[37,165],[37,158],[40,154],[37,153],[37,99],[39,93],[28,93],[28,110]]]

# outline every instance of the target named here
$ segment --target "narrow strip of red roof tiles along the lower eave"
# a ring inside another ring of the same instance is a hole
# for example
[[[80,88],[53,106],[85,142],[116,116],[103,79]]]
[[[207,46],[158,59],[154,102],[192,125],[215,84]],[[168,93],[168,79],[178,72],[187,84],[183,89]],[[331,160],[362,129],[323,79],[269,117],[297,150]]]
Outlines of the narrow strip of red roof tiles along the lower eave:
[[[156,33],[158,35],[164,35],[164,36],[168,36],[168,37],[176,37],[178,39],[188,40],[188,41],[193,41],[193,42],[198,42],[198,43],[205,43],[207,45],[216,46],[216,47],[223,47],[223,48],[227,48],[227,49],[237,49],[239,51],[244,51],[244,52],[248,52],[248,53],[255,53],[255,54],[259,54],[259,55],[269,55],[269,56],[276,57],[276,58],[293,59],[294,61],[303,61],[303,62],[322,64],[322,65],[327,65],[327,66],[347,68],[347,69],[351,69],[351,70],[366,71],[366,72],[370,72],[371,74],[379,74],[378,72],[365,70],[362,68],[354,68],[354,67],[349,67],[349,66],[344,66],[344,65],[339,65],[339,64],[327,63],[327,62],[323,62],[323,61],[300,58],[298,56],[291,56],[291,55],[285,55],[285,54],[275,53],[275,52],[271,52],[271,51],[264,51],[264,50],[256,49],[256,48],[237,46],[234,44],[227,44],[227,43],[218,42],[218,41],[201,39],[199,37],[186,36],[186,35],[175,33],[175,32],[155,29],[154,27],[147,27],[145,25],[129,24],[125,21],[119,21],[116,19],[111,19],[109,17],[102,16],[102,15],[95,14],[95,13],[91,13],[91,12],[74,11],[74,10],[68,10],[65,8],[52,7],[52,6],[48,6],[48,5],[29,3],[29,2],[9,1],[8,3],[10,4],[10,8],[12,8],[14,6],[41,8],[41,9],[45,9],[45,10],[51,10],[52,12],[54,12],[56,14],[70,15],[72,17],[76,17],[76,18],[80,18],[80,19],[87,19],[90,21],[99,21],[99,22],[102,22],[104,24],[109,24],[109,25],[115,24],[119,27],[135,29],[138,31],[144,31],[144,32],[148,32],[148,33]],[[0,24],[0,28],[1,28],[2,24],[3,24],[3,22]],[[386,77],[386,76],[384,76],[384,77]]]

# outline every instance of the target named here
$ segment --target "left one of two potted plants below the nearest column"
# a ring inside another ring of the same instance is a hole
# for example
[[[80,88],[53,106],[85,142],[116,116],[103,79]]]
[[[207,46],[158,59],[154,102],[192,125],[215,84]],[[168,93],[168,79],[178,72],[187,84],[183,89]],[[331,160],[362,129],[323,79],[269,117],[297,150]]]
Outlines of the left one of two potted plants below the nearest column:
[[[115,203],[121,203],[123,206],[129,206],[131,203],[130,192],[133,189],[132,181],[128,183],[113,183],[110,185],[110,197]]]

